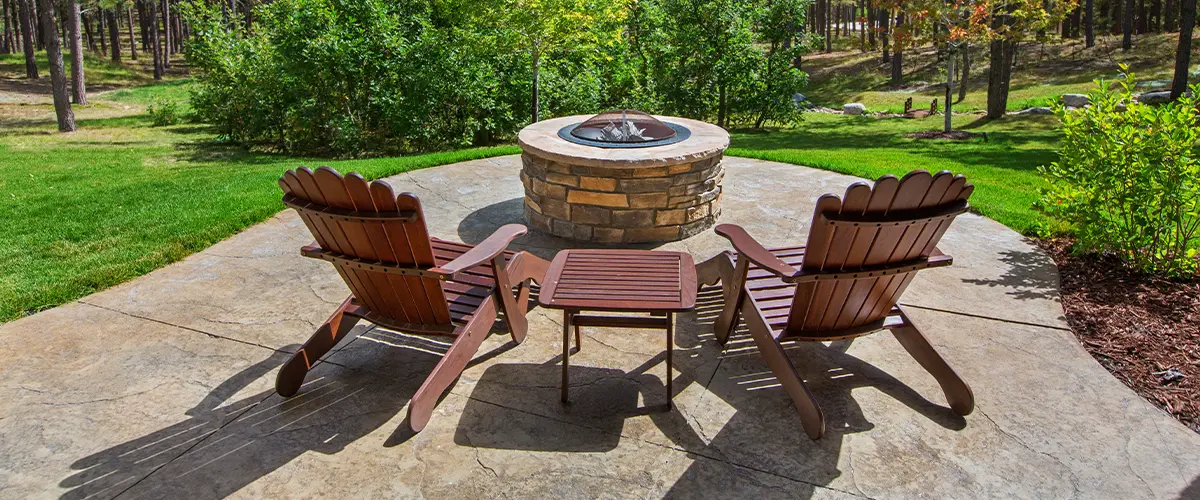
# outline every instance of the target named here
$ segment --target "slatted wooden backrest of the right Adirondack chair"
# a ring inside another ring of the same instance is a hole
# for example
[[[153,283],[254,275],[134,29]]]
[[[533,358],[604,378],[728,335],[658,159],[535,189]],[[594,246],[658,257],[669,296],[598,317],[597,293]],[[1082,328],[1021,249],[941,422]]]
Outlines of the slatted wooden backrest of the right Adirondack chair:
[[[874,186],[856,182],[842,198],[817,200],[802,269],[856,272],[929,257],[953,217],[929,217],[960,205],[972,192],[961,175],[917,170],[904,179],[884,176]],[[826,223],[824,215],[863,221]],[[884,318],[916,276],[914,271],[797,284],[788,330],[828,331],[862,326]]]

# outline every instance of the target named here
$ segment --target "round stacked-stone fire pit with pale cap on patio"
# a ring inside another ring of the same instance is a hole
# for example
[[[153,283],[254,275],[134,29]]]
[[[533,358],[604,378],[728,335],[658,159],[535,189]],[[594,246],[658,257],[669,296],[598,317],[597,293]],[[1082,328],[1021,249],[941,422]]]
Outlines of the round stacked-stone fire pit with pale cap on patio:
[[[529,224],[556,236],[600,243],[676,241],[715,224],[721,213],[721,158],[730,134],[702,121],[643,116],[678,132],[672,139],[647,144],[674,143],[642,146],[572,139],[571,126],[587,125],[592,119],[587,115],[545,120],[522,129],[517,143],[523,151],[521,182]]]

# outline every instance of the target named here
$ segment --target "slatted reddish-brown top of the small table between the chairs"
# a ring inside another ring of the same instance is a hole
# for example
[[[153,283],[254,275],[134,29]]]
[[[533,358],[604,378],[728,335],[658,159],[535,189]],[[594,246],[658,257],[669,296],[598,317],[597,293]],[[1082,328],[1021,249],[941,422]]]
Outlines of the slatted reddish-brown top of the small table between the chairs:
[[[690,311],[696,306],[696,264],[682,252],[562,251],[538,301],[556,309]]]

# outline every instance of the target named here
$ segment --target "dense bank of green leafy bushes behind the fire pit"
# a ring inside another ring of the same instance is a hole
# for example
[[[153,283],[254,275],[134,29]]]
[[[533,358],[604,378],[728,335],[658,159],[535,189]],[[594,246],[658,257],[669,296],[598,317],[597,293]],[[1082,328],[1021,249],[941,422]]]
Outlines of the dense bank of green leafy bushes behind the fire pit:
[[[250,145],[367,156],[511,139],[529,121],[533,61],[542,118],[797,119],[806,79],[790,64],[794,29],[780,28],[804,25],[800,0],[706,1],[720,13],[708,20],[734,22],[727,34],[668,22],[694,11],[678,0],[536,4],[548,20],[514,16],[511,0],[278,0],[256,7],[251,32],[216,4],[181,8],[197,118]]]

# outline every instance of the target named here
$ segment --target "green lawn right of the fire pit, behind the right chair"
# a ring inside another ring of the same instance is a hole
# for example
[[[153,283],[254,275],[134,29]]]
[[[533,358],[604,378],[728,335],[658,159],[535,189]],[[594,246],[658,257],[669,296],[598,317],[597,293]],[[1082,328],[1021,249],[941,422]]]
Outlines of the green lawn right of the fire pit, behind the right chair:
[[[1038,165],[1056,159],[1055,116],[1009,116],[986,122],[956,116],[954,125],[988,140],[910,139],[905,133],[940,129],[941,116],[924,120],[808,114],[794,128],[733,133],[732,156],[794,163],[876,179],[913,169],[950,170],[976,185],[971,203],[979,213],[1025,234],[1064,228],[1033,207],[1045,181]]]

